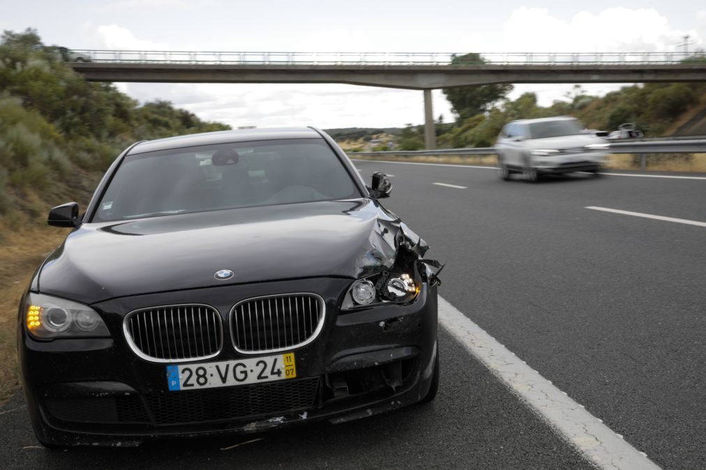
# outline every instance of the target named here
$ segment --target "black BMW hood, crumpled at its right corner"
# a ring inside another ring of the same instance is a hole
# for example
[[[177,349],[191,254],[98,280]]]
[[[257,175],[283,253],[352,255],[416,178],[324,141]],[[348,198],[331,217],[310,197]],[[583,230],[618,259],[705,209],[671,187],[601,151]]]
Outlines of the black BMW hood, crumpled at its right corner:
[[[415,238],[416,237],[416,238]],[[86,304],[150,292],[390,268],[426,244],[371,199],[86,223],[42,266],[40,292]],[[215,272],[234,271],[228,280]]]

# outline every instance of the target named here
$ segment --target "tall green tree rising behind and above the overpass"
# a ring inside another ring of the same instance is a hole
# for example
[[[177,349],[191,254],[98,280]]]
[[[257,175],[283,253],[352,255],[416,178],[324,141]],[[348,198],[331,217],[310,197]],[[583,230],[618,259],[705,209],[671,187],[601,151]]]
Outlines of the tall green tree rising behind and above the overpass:
[[[486,61],[480,54],[471,52],[462,56],[453,56],[451,65],[478,65]],[[443,94],[451,103],[453,113],[459,118],[469,118],[489,111],[493,104],[507,97],[513,85],[472,85],[465,87],[444,88]]]

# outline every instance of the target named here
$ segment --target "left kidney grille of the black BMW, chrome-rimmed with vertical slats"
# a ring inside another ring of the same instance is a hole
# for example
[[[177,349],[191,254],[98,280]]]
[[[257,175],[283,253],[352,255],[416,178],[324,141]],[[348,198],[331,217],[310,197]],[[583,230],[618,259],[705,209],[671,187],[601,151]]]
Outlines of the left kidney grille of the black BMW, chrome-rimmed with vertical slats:
[[[201,304],[133,311],[126,315],[123,330],[133,352],[148,361],[215,357],[223,344],[220,314]]]

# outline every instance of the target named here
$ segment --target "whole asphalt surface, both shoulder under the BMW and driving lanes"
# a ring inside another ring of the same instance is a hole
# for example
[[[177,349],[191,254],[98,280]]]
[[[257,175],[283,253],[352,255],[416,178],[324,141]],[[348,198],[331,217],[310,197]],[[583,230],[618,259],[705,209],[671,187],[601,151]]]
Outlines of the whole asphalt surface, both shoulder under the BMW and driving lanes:
[[[394,175],[384,204],[448,261],[445,299],[657,464],[706,468],[706,228],[585,209],[704,222],[706,180],[355,163]],[[18,395],[0,408],[0,467],[589,467],[443,329],[440,347],[432,404],[264,435],[56,452]]]

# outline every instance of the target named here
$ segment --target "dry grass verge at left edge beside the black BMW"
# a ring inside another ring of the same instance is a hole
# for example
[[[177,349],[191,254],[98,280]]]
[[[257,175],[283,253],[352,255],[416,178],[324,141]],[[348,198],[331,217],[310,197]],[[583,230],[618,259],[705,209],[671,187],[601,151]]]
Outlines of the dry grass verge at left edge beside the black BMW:
[[[16,322],[20,297],[35,269],[66,237],[66,230],[0,223],[0,404],[20,387]]]

